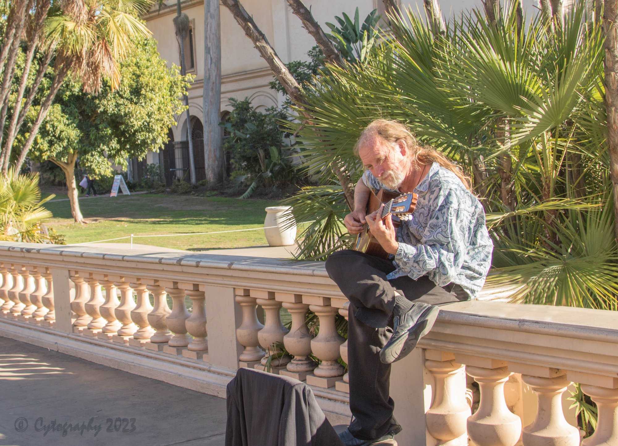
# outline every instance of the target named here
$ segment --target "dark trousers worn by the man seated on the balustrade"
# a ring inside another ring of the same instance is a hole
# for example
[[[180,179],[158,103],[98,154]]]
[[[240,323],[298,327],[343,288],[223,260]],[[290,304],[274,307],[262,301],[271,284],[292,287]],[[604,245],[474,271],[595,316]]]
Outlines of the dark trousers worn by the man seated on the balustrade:
[[[391,260],[352,250],[337,251],[326,261],[326,271],[350,301],[347,351],[354,420],[349,430],[362,440],[379,438],[397,424],[389,396],[391,364],[379,359],[379,351],[392,334],[394,290],[410,301],[430,305],[467,300],[459,286],[438,287],[426,276],[386,279],[394,269]]]

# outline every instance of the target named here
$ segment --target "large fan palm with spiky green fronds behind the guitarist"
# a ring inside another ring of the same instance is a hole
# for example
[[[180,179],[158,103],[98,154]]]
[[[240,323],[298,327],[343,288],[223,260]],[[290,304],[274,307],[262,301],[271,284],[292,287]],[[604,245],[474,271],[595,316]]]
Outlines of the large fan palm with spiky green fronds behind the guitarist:
[[[307,88],[313,126],[291,130],[303,168],[323,185],[287,203],[299,220],[313,206],[302,256],[324,258],[349,242],[329,162],[338,157],[358,179],[353,144],[368,122],[387,117],[473,177],[496,246],[489,285],[512,288],[516,301],[616,309],[601,27],[582,6],[554,26],[527,20],[517,3],[494,14],[472,11],[436,35],[408,11],[362,64],[331,65]]]

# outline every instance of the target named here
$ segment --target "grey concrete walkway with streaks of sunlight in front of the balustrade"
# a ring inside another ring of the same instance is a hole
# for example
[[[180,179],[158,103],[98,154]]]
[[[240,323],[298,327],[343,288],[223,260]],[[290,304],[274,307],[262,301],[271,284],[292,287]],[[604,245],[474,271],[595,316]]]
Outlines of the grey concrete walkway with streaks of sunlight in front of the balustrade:
[[[223,446],[225,429],[221,398],[0,337],[2,446]]]

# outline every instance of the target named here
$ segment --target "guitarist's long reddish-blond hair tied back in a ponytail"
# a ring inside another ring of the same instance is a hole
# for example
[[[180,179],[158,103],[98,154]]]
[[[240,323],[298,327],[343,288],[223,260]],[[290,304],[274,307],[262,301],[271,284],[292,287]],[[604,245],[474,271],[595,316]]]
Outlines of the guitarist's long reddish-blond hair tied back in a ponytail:
[[[405,145],[407,146],[408,156],[414,166],[419,167],[421,164],[431,164],[433,162],[437,162],[445,169],[451,170],[451,172],[457,175],[457,178],[464,183],[464,186],[469,191],[472,191],[472,180],[470,180],[470,177],[465,175],[454,162],[446,158],[446,156],[433,147],[421,146],[418,143],[417,138],[412,135],[412,132],[410,132],[404,124],[397,121],[376,119],[371,122],[371,124],[369,124],[360,134],[360,137],[354,146],[354,153],[358,155],[359,146],[363,142],[375,137],[380,137],[392,145],[396,145],[399,140],[404,140]]]

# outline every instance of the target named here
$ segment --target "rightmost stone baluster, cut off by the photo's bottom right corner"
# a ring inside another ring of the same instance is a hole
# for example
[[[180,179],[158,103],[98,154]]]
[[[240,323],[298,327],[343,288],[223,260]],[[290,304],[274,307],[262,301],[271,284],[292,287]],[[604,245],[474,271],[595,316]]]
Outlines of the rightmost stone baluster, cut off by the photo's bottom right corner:
[[[582,384],[582,390],[592,398],[599,410],[596,431],[583,440],[582,446],[618,445],[618,389]]]

